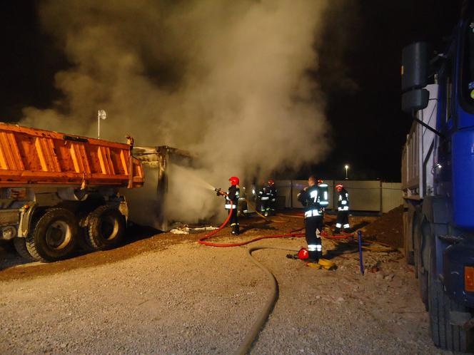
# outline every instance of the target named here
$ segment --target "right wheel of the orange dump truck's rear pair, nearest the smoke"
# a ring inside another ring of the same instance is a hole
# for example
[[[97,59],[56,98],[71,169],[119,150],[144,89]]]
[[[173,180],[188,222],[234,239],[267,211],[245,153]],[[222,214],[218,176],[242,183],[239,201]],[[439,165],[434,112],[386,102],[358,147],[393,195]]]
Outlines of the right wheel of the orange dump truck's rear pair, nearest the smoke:
[[[116,247],[125,236],[125,219],[114,207],[99,206],[87,217],[88,244],[96,250]]]

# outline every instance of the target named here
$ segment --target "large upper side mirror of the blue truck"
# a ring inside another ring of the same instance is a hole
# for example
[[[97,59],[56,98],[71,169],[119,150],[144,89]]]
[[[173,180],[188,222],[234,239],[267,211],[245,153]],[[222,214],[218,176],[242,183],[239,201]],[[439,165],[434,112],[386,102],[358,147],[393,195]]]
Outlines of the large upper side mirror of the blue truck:
[[[415,42],[402,51],[402,92],[428,85],[428,43]]]

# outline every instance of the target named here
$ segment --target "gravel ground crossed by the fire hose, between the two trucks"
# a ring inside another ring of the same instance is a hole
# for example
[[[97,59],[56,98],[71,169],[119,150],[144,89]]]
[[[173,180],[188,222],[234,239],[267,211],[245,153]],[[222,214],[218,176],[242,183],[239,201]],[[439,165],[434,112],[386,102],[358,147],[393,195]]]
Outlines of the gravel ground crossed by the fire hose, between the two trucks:
[[[247,224],[241,240],[288,232],[301,220]],[[231,240],[228,230],[221,235],[219,242]],[[6,257],[0,354],[232,353],[266,301],[269,283],[246,247],[203,247],[198,237],[136,237],[118,249],[53,264]],[[299,249],[305,242],[252,244],[258,245]],[[330,240],[323,245],[352,250]],[[254,252],[276,275],[280,293],[251,354],[443,354],[431,344],[413,269],[398,252],[365,252],[366,267],[379,270],[365,276],[354,253],[333,252],[335,271],[306,267],[286,254]]]

